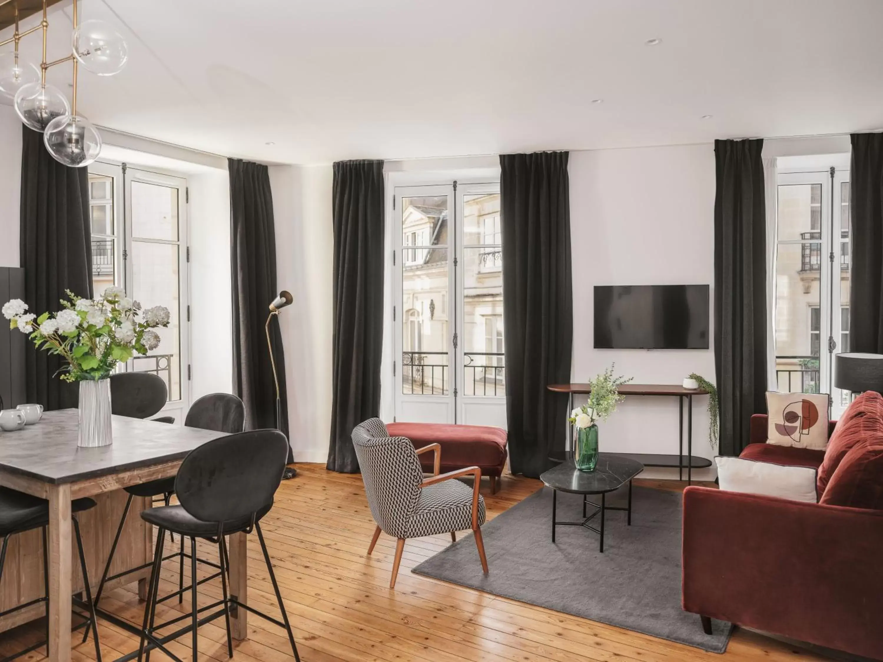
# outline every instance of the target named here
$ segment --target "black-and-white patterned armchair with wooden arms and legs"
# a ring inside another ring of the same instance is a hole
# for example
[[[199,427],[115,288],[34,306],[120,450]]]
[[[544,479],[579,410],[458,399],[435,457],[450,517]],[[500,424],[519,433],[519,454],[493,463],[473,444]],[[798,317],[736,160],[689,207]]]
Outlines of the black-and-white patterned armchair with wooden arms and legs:
[[[487,574],[485,545],[480,529],[485,523],[485,500],[479,494],[481,470],[478,467],[450,471],[440,476],[442,449],[438,444],[414,450],[411,441],[405,437],[390,437],[380,418],[369,418],[357,425],[352,431],[352,445],[362,470],[371,515],[374,515],[374,522],[377,523],[368,553],[374,551],[381,530],[396,538],[390,589],[396,587],[405,538],[450,532],[451,539],[456,540],[455,531],[472,529],[475,545],[479,548],[481,568]],[[434,475],[423,478],[418,455],[429,451],[435,454]],[[451,480],[462,476],[472,476],[473,486]]]

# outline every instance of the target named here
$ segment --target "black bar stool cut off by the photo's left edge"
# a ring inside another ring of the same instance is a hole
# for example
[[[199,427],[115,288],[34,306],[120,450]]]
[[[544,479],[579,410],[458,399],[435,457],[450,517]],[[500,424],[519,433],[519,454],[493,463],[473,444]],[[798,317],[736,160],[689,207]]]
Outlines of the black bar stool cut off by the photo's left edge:
[[[95,605],[92,600],[92,590],[89,587],[89,573],[86,568],[86,556],[83,553],[83,539],[79,535],[79,521],[77,520],[78,513],[88,510],[89,508],[94,508],[94,506],[95,502],[91,499],[75,499],[71,501],[73,530],[77,537],[77,551],[79,552],[79,568],[83,573],[83,591],[86,593],[85,602],[76,596],[74,596],[72,600],[73,606],[76,606],[78,609],[82,609],[87,613],[87,615],[84,616],[76,611],[73,612],[80,618],[84,619],[79,625],[74,626],[73,629],[82,628],[84,625],[87,626],[87,628],[89,626],[94,627],[93,638],[95,642],[95,659],[97,662],[102,662],[102,650],[98,642],[98,628],[96,627],[97,623],[95,621]],[[8,662],[11,659],[19,658],[26,653],[35,651],[42,645],[46,646],[46,656],[49,657],[49,548],[46,545],[47,526],[49,526],[49,501],[31,496],[30,494],[18,492],[17,490],[11,490],[8,487],[0,487],[0,536],[3,537],[3,547],[0,548],[0,582],[3,581],[6,548],[9,545],[9,539],[11,536],[29,530],[42,529],[43,586],[45,591],[45,595],[42,598],[36,598],[23,605],[7,609],[3,613],[0,613],[0,618],[18,612],[25,607],[38,605],[42,602],[46,603],[47,613],[46,641],[34,643],[34,645],[28,646],[24,651],[19,651],[4,658],[4,662]],[[84,638],[83,641],[85,642],[86,639]]]

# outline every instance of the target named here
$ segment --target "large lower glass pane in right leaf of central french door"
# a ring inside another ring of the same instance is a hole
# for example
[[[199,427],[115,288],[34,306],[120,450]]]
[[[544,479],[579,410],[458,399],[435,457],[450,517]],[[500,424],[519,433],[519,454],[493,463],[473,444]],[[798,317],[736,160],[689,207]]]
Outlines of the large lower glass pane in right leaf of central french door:
[[[500,248],[464,248],[464,395],[506,395]]]

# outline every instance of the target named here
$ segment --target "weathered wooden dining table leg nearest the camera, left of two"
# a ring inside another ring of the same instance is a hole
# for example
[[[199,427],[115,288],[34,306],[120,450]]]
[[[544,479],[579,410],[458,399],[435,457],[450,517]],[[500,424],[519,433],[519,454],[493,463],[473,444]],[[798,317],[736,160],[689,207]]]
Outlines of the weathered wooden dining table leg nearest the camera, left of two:
[[[49,660],[71,660],[71,485],[49,487]]]

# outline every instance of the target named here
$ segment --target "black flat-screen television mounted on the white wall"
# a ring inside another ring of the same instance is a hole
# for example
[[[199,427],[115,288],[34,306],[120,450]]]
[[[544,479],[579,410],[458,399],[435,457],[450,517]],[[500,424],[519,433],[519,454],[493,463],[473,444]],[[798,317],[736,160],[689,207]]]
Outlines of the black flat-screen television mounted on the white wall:
[[[707,350],[707,285],[596,285],[595,348]]]

